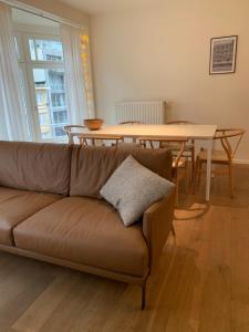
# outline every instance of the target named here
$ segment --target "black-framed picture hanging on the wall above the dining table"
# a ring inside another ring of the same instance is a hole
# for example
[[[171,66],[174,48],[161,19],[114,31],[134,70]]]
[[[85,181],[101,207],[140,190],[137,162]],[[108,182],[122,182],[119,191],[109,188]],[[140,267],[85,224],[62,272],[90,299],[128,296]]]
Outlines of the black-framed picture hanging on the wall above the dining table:
[[[211,39],[209,74],[229,74],[236,71],[238,35]]]

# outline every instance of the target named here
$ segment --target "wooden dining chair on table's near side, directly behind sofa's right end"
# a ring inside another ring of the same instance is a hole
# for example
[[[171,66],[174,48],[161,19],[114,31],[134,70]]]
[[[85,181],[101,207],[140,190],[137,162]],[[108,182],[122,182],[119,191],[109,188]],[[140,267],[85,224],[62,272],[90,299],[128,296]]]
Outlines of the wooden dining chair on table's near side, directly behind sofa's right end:
[[[162,148],[165,147],[165,144],[168,146],[176,146],[177,151],[173,152],[173,180],[176,184],[176,205],[179,201],[179,184],[183,179],[185,179],[186,191],[189,189],[189,176],[188,176],[188,158],[184,157],[184,152],[186,148],[186,144],[188,138],[148,138],[148,137],[139,137],[138,142],[142,147],[149,146],[151,148]],[[178,148],[180,146],[180,148]]]

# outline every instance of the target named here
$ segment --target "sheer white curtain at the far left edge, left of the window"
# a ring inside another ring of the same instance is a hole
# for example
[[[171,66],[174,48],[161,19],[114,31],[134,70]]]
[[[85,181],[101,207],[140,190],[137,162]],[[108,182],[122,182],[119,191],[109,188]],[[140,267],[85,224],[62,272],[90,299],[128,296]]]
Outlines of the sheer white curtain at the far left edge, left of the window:
[[[29,131],[15,54],[11,8],[0,2],[0,139],[28,141]]]

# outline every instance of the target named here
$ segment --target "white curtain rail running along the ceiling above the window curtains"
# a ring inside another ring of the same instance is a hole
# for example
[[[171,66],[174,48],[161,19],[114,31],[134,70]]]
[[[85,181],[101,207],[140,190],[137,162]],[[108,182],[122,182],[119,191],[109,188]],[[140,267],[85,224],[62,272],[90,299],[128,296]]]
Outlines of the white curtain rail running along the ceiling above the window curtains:
[[[73,22],[71,20],[63,19],[61,17],[54,15],[54,14],[52,14],[50,12],[46,12],[46,11],[38,9],[35,7],[22,3],[22,2],[17,1],[17,0],[0,0],[0,2],[9,4],[11,8],[25,11],[25,12],[34,14],[37,17],[54,21],[56,23],[64,23],[64,24],[68,24],[68,25],[74,27],[74,28],[86,29],[86,27],[77,24],[77,23],[75,23],[75,22]]]

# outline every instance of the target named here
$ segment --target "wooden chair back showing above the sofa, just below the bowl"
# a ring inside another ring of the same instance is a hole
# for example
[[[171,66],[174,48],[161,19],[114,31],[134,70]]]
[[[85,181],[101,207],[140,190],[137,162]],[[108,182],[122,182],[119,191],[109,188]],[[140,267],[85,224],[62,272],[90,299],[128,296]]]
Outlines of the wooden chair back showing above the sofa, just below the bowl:
[[[102,135],[82,135],[79,136],[80,144],[89,145],[98,145],[98,146],[118,146],[120,143],[124,142],[124,137],[117,135],[108,135],[103,137]]]

